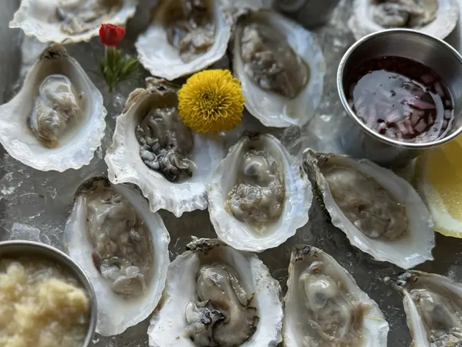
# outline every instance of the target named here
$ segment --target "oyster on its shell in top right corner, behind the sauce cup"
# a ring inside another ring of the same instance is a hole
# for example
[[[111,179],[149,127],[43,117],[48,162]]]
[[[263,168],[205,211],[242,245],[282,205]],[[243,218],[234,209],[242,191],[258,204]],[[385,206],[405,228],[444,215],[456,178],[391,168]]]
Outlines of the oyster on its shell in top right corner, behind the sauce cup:
[[[356,40],[387,28],[413,28],[444,39],[459,18],[457,0],[355,0],[348,26]]]

